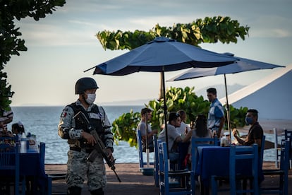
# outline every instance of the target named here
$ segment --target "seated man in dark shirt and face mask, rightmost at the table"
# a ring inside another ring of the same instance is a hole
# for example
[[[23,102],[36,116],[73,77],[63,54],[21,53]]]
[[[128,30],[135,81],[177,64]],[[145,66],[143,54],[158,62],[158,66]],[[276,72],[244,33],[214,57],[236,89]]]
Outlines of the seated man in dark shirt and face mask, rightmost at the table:
[[[238,141],[239,145],[250,146],[253,143],[257,143],[259,146],[259,150],[262,145],[262,137],[264,136],[264,131],[262,130],[262,126],[260,126],[259,122],[257,122],[258,112],[255,109],[250,109],[246,113],[245,123],[250,125],[250,129],[248,131],[248,136],[245,140],[238,137],[236,131],[233,131],[233,136]]]

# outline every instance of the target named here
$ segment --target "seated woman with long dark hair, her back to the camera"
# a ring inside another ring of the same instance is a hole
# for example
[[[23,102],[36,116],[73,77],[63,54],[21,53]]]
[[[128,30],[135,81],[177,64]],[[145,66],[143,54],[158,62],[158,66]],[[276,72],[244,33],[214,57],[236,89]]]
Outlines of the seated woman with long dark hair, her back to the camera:
[[[207,129],[207,118],[205,115],[197,115],[195,119],[195,128],[188,131],[185,135],[184,141],[190,141],[191,138],[212,138],[212,132]],[[192,146],[188,147],[188,155],[185,156],[184,165],[190,165]]]

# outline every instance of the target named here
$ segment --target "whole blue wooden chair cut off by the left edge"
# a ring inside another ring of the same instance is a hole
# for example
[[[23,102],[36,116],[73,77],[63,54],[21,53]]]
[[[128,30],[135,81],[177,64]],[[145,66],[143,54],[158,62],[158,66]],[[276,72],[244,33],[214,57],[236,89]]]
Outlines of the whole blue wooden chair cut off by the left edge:
[[[14,194],[20,194],[20,153],[19,143],[12,146],[10,143],[0,143],[0,172],[14,172],[13,179],[1,173],[0,194],[10,192],[11,183],[14,186]],[[25,179],[25,178],[24,178]],[[21,194],[25,194],[25,181],[22,184]],[[5,191],[2,191],[4,190]]]

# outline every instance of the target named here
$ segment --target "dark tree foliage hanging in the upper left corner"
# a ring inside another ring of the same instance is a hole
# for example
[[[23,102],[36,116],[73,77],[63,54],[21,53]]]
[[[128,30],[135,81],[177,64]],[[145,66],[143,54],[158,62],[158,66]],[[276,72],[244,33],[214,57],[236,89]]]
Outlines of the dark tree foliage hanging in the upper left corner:
[[[56,6],[63,6],[65,0],[9,0],[0,1],[0,103],[6,109],[11,103],[8,98],[12,98],[11,85],[6,83],[7,75],[3,73],[5,64],[11,59],[12,55],[20,55],[20,51],[27,51],[25,40],[20,39],[22,35],[16,28],[14,20],[32,17],[35,20],[44,18],[47,13],[56,11]]]

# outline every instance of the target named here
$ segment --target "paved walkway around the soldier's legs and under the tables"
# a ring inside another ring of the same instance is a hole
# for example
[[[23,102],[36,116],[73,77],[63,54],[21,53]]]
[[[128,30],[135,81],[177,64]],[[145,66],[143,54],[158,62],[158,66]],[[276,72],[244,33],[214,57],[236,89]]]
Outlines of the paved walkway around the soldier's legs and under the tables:
[[[274,162],[264,162],[263,169],[274,169]],[[46,165],[47,173],[66,173],[66,165]],[[154,195],[159,194],[159,188],[154,187],[154,176],[142,175],[139,169],[139,165],[136,163],[121,163],[116,164],[116,173],[121,179],[121,183],[118,182],[114,172],[107,167],[107,187],[104,189],[105,194],[118,194],[118,195]],[[292,194],[292,170],[289,170],[288,179],[288,194]],[[262,182],[262,187],[271,187],[279,184],[278,177],[266,177]],[[57,180],[53,182],[53,193],[66,193],[65,180]],[[87,191],[86,183],[83,189],[83,194],[90,194]],[[200,194],[200,190],[197,187],[196,194]],[[228,194],[228,193],[227,193]]]

